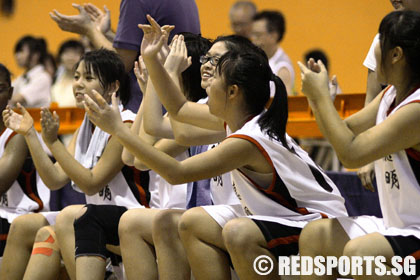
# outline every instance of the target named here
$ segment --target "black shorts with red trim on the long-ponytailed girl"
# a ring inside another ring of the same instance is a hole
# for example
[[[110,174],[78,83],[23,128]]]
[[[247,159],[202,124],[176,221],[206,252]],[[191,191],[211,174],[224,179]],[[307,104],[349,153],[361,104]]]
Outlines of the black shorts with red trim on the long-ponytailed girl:
[[[263,233],[268,249],[276,256],[291,256],[299,253],[299,236],[302,228],[280,223],[252,219]]]

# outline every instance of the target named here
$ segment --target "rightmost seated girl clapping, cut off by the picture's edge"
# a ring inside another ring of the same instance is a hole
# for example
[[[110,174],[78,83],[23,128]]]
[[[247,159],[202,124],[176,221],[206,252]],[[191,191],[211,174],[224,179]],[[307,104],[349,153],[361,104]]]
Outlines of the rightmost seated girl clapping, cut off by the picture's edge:
[[[302,91],[343,165],[357,168],[375,161],[383,218],[315,221],[305,227],[299,244],[303,256],[383,256],[383,266],[389,271],[393,256],[416,256],[420,249],[420,14],[388,14],[379,26],[379,38],[375,47],[377,77],[390,86],[345,120],[340,119],[328,96],[325,66],[314,61],[309,69],[299,66]],[[311,71],[319,66],[320,73]],[[387,279],[415,279],[420,275],[417,257],[411,265],[415,265],[416,275],[390,275]],[[373,264],[372,271],[376,268]],[[379,277],[365,272],[353,275],[354,279]],[[319,278],[336,276],[337,272]]]

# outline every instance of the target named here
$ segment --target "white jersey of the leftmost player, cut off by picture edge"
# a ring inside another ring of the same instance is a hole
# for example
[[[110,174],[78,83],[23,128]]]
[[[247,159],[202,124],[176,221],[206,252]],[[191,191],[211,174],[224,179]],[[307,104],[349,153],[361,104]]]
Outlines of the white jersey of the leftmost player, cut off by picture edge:
[[[8,128],[1,133],[0,157],[15,134]],[[27,164],[9,190],[0,197],[0,217],[7,219],[9,223],[17,216],[50,209],[50,190],[42,182],[30,158],[25,162],[25,165]]]

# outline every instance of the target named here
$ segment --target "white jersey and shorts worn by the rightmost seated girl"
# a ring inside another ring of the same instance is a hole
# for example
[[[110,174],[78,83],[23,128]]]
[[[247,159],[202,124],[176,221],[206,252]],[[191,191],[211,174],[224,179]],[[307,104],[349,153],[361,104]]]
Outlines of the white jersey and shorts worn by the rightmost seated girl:
[[[377,125],[401,107],[420,103],[420,89],[397,106],[394,106],[395,97],[396,89],[389,86],[379,105]],[[417,259],[420,252],[420,152],[406,149],[379,159],[375,161],[375,173],[383,218],[361,216],[338,220],[351,239],[379,232],[387,238],[395,255],[413,255]],[[417,262],[418,275],[419,264]]]

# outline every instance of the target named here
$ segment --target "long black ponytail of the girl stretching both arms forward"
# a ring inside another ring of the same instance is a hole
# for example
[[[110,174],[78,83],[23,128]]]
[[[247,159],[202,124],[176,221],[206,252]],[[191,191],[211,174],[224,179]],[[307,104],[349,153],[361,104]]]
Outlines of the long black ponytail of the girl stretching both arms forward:
[[[275,85],[275,94],[270,107],[263,113],[258,120],[262,130],[265,130],[268,136],[280,141],[283,146],[289,149],[286,141],[286,125],[289,115],[287,105],[287,91],[283,81],[273,73],[271,81]]]

